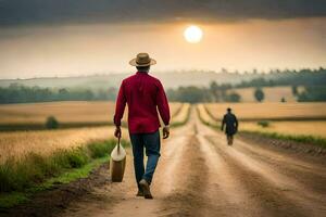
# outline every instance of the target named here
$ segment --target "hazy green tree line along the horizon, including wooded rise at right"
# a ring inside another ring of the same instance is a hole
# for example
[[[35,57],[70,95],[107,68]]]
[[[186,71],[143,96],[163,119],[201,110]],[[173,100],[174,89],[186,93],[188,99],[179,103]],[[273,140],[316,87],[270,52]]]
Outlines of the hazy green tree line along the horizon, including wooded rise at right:
[[[253,74],[258,74],[253,72]],[[326,101],[326,69],[301,69],[301,71],[275,71],[261,75],[251,80],[242,80],[239,84],[217,84],[211,81],[209,87],[179,87],[168,89],[167,95],[171,101],[179,102],[241,102],[241,95],[237,88],[253,87],[253,97],[258,102],[264,100],[264,87],[290,86],[292,93],[299,102]],[[298,91],[298,87],[304,87]],[[51,102],[51,101],[114,101],[117,89],[83,89],[83,88],[40,88],[11,84],[9,87],[0,87],[0,104]],[[281,95],[280,95],[281,97]],[[285,102],[286,99],[280,99]]]

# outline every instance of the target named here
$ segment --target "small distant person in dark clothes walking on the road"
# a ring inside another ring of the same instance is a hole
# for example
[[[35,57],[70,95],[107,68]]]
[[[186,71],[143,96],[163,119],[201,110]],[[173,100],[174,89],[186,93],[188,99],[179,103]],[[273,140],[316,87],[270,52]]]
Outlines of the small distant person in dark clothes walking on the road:
[[[224,130],[225,127],[225,133],[227,139],[227,144],[233,145],[234,143],[234,135],[238,131],[238,119],[235,114],[231,113],[231,108],[227,108],[227,113],[224,115],[222,120],[222,127],[221,130]]]

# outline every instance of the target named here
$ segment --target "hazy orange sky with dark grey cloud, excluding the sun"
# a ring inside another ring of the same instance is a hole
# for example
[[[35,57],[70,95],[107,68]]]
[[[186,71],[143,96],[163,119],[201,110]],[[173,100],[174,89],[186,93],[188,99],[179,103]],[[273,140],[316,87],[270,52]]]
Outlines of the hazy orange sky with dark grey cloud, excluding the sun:
[[[186,42],[191,24],[201,42]],[[326,66],[324,0],[0,0],[0,78]]]

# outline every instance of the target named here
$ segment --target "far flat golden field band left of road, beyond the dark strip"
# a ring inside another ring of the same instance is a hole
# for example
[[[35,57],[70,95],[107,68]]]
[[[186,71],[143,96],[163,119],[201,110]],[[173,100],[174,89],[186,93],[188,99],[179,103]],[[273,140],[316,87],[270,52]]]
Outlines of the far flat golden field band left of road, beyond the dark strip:
[[[175,114],[181,103],[171,103]],[[0,124],[40,124],[48,116],[60,123],[110,123],[114,115],[114,102],[49,102],[0,105]],[[127,120],[127,111],[124,122]]]

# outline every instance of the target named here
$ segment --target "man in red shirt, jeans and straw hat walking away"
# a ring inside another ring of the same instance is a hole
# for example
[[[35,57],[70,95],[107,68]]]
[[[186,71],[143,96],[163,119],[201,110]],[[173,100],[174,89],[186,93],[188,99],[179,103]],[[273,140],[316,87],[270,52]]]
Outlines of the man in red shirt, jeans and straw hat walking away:
[[[136,66],[137,73],[123,80],[115,105],[114,136],[120,138],[121,119],[128,104],[128,128],[133,144],[134,167],[138,184],[137,196],[152,199],[150,183],[160,157],[160,119],[164,123],[163,139],[170,136],[170,107],[161,81],[150,76],[151,65],[156,63],[148,53],[139,53],[129,64]],[[148,156],[143,165],[143,149]]]

